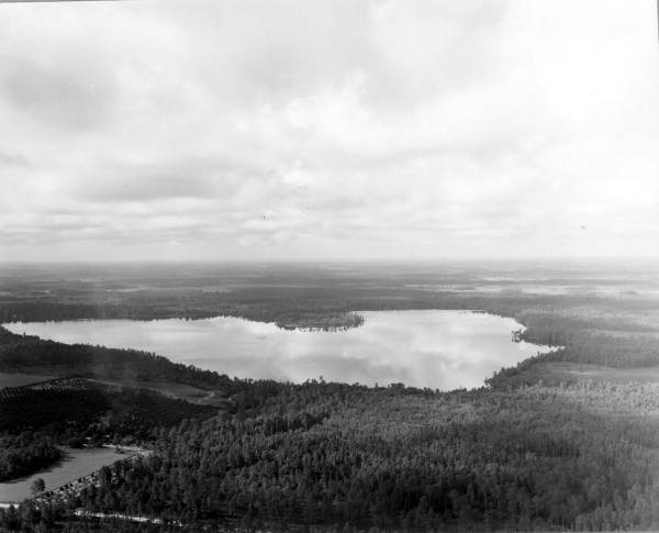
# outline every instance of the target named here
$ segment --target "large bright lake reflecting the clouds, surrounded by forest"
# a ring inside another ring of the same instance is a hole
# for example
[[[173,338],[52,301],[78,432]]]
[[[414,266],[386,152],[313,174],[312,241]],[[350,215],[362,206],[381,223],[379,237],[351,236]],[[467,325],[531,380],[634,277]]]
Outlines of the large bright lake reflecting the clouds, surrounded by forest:
[[[501,367],[515,365],[548,346],[513,343],[522,326],[468,311],[368,311],[347,331],[287,331],[236,318],[131,321],[87,320],[14,323],[15,333],[64,343],[99,344],[155,352],[177,363],[242,378],[295,382],[388,385],[433,389],[480,387]]]

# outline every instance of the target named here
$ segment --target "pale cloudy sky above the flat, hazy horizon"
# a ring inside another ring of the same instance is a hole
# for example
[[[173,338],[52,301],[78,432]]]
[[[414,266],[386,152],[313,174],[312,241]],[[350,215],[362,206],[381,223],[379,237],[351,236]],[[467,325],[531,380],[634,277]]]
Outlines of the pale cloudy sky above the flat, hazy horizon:
[[[659,255],[655,0],[0,4],[0,262]]]

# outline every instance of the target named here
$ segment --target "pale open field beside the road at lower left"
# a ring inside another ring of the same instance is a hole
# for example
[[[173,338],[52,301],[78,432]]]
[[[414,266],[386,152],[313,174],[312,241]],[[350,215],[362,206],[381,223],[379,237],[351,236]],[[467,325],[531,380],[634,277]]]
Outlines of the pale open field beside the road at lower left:
[[[0,503],[20,502],[32,496],[31,487],[36,478],[42,478],[46,490],[60,487],[78,478],[88,476],[115,460],[125,459],[126,455],[118,454],[114,448],[63,448],[65,459],[46,470],[26,476],[10,482],[0,484]]]

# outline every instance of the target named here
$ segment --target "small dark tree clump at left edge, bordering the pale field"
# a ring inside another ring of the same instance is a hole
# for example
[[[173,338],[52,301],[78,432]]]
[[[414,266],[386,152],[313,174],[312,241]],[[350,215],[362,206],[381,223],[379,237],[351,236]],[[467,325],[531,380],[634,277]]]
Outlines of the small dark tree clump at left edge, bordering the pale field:
[[[47,434],[0,434],[0,481],[27,476],[60,458],[62,452]]]

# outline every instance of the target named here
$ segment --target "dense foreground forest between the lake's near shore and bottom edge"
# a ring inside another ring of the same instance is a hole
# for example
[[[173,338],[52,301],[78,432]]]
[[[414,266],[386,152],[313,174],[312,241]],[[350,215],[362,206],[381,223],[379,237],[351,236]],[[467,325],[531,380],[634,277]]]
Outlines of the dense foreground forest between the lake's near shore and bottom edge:
[[[657,409],[656,385],[287,386],[249,415],[159,430],[68,507],[200,530],[657,529]]]

